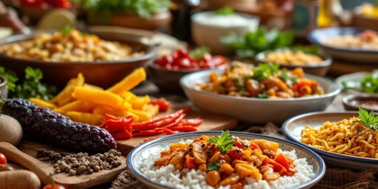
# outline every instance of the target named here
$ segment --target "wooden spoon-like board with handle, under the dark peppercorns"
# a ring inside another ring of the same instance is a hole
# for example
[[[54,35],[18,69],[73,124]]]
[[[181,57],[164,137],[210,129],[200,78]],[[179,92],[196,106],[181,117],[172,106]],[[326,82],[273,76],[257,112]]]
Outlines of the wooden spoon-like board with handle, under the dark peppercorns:
[[[9,143],[0,142],[0,152],[7,156],[9,161],[18,163],[34,172],[37,174],[42,183],[50,184],[49,173],[53,172],[53,165],[35,158],[36,150],[41,148],[61,152],[52,149],[47,145],[25,140],[22,141],[17,148]],[[82,189],[103,184],[113,180],[120,172],[126,169],[126,158],[120,156],[120,161],[122,162],[122,165],[117,168],[102,170],[93,174],[82,174],[75,176],[69,176],[68,173],[58,173],[53,175],[54,180],[55,182],[64,185],[67,189]]]

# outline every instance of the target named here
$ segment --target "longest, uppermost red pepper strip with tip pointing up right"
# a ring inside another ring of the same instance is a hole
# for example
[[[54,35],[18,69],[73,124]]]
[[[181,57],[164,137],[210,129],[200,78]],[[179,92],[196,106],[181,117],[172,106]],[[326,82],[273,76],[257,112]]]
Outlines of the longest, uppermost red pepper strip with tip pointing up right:
[[[187,112],[189,110],[190,110],[190,108],[180,109],[180,110],[178,110],[178,111],[176,111],[174,113],[165,115],[159,121],[154,121],[154,122],[149,122],[149,123],[147,123],[148,121],[145,121],[145,123],[142,123],[142,124],[133,123],[132,124],[132,128],[133,128],[134,131],[137,131],[137,130],[150,130],[150,129],[160,128],[160,127],[163,127],[164,125],[167,125],[167,124],[173,122],[182,113],[185,113],[185,112]]]

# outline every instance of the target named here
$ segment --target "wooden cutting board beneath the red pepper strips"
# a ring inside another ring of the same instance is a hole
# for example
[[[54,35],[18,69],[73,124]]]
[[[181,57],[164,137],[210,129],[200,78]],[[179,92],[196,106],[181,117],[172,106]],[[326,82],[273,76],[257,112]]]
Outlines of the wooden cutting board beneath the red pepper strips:
[[[173,107],[170,108],[168,112],[165,112],[164,114],[159,114],[158,116],[163,116],[167,113],[172,113],[180,108],[185,107],[182,105],[178,106],[174,104],[172,106]],[[227,117],[227,116],[223,116],[219,114],[208,113],[208,112],[198,112],[193,109],[189,113],[187,113],[185,119],[195,118],[195,117],[201,117],[204,120],[202,124],[197,127],[198,131],[220,131],[220,130],[225,131],[225,130],[234,129],[237,125],[237,119],[235,118],[231,118],[231,117]],[[136,146],[141,144],[141,142],[143,142],[143,140],[145,140],[146,138],[150,138],[150,137],[135,137],[129,140],[116,141],[117,149],[121,151],[124,155],[127,155]]]

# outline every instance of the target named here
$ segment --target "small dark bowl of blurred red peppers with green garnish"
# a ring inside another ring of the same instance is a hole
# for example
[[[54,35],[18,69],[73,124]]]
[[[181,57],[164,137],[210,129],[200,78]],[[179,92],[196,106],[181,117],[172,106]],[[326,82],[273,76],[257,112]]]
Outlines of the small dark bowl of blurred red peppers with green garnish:
[[[182,76],[196,71],[227,66],[227,58],[211,55],[209,51],[208,47],[197,47],[190,51],[177,49],[171,54],[150,61],[148,64],[149,76],[160,91],[183,94],[179,85]]]

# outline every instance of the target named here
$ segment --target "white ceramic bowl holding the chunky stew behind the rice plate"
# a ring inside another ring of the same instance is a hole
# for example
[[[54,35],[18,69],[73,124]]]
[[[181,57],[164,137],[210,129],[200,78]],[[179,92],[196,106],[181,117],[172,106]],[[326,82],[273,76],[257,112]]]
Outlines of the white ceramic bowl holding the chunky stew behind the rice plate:
[[[294,115],[324,110],[341,91],[340,87],[331,80],[309,74],[306,74],[306,77],[318,81],[325,90],[324,95],[291,99],[262,99],[233,97],[195,89],[197,83],[208,82],[212,72],[222,74],[223,70],[201,71],[182,77],[180,85],[186,96],[203,111],[229,115],[253,123],[265,124],[271,121],[281,124]]]

